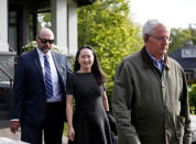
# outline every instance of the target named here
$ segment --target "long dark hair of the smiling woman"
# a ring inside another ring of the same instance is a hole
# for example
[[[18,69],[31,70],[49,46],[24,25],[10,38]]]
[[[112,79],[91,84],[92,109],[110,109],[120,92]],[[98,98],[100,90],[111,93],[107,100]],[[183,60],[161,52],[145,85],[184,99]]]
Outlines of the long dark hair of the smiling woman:
[[[74,65],[74,71],[76,73],[76,71],[78,71],[80,69],[80,64],[78,63],[78,57],[79,57],[80,51],[84,49],[84,48],[90,49],[92,55],[94,55],[94,63],[92,63],[92,66],[91,66],[91,73],[95,75],[95,77],[97,79],[97,82],[99,85],[106,82],[105,73],[102,71],[102,69],[101,69],[101,67],[99,65],[99,62],[97,59],[95,51],[89,45],[84,45],[84,46],[79,47],[79,49],[77,51],[75,65]]]

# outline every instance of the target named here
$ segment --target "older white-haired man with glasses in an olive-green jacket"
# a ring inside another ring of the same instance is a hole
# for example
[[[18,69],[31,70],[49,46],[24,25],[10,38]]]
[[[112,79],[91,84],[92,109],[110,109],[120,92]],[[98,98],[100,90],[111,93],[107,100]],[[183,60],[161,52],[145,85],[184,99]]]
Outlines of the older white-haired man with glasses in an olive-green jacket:
[[[144,47],[117,68],[112,108],[119,144],[190,144],[183,68],[167,57],[170,29],[159,20],[143,26]]]

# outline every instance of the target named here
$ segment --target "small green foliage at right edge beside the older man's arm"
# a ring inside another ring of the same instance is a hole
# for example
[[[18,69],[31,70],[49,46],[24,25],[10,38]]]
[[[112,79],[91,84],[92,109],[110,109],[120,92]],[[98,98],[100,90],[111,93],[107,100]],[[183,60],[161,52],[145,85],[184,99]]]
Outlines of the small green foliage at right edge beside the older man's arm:
[[[189,107],[190,111],[194,112],[196,111],[196,85],[192,86],[192,89],[188,90],[188,96],[189,96]]]

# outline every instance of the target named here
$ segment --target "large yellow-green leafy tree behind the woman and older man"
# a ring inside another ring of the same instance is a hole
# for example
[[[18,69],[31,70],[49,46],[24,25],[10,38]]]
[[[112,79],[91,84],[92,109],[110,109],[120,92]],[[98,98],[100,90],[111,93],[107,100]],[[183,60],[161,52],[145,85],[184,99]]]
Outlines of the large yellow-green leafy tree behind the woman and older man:
[[[129,19],[127,0],[99,0],[78,9],[78,43],[91,45],[107,75],[107,95],[111,97],[113,76],[121,59],[140,48],[140,27]]]

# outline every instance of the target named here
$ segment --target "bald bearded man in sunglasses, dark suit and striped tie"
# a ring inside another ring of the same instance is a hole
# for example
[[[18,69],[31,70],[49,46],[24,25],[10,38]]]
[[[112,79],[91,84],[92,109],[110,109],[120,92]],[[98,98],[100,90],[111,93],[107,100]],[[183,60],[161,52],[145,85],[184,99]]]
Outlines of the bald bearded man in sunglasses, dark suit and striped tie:
[[[31,144],[62,144],[65,121],[66,57],[51,51],[54,34],[42,29],[37,46],[19,57],[15,68],[11,132],[21,126],[21,140]]]

